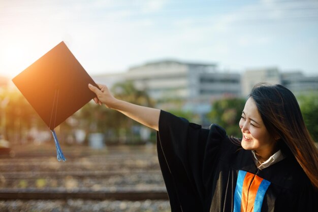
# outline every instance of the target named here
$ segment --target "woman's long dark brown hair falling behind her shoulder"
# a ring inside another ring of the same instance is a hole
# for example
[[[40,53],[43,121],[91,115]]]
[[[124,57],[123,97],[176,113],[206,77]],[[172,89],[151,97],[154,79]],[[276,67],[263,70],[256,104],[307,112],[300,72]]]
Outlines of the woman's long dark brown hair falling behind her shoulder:
[[[296,97],[282,85],[257,84],[249,94],[264,125],[294,155],[312,185],[318,188],[318,149],[311,138]]]

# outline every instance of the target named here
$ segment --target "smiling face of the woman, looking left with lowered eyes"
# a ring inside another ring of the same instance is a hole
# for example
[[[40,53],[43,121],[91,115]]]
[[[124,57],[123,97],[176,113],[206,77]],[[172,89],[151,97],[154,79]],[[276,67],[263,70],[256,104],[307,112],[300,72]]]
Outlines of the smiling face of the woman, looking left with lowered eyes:
[[[242,147],[255,150],[263,156],[271,156],[275,148],[275,139],[267,131],[254,100],[249,97],[245,103],[239,126],[242,131]]]

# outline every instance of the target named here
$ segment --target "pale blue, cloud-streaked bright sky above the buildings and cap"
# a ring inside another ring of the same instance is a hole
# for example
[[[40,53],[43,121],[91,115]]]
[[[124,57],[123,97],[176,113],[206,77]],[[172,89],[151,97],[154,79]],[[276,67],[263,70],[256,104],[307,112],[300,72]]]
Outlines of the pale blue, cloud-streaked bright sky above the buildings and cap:
[[[318,1],[0,0],[0,75],[61,41],[90,75],[167,58],[318,75]]]

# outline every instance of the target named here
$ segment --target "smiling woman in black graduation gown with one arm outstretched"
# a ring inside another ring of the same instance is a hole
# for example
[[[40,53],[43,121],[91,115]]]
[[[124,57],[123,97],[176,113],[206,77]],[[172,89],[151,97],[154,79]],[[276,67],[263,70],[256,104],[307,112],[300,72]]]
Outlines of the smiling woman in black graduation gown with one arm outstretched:
[[[287,88],[252,89],[237,139],[216,124],[202,129],[99,87],[89,85],[96,103],[157,131],[172,211],[318,211],[318,152]]]

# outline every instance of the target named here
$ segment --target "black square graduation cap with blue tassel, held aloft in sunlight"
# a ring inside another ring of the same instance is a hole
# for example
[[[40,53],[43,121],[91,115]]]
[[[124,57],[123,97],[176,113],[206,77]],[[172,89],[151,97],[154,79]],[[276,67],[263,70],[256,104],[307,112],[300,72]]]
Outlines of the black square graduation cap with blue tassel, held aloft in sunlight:
[[[65,161],[54,128],[95,96],[87,85],[97,86],[96,83],[64,42],[28,66],[12,81],[50,128],[57,159]]]

